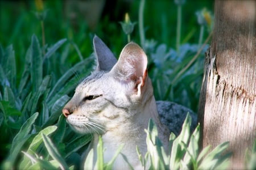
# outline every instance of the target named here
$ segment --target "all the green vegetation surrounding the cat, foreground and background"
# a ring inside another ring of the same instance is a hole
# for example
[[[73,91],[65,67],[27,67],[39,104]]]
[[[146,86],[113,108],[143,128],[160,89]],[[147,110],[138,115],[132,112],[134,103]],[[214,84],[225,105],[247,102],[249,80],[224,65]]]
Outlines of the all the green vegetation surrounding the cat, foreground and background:
[[[102,17],[94,31],[82,19],[75,29],[63,17],[63,1],[17,3],[19,7],[13,8],[13,3],[0,1],[1,168],[78,168],[80,155],[92,136],[73,133],[61,109],[81,79],[92,71],[94,33],[116,56],[127,43],[127,35],[108,15]],[[192,3],[198,6],[191,8]],[[175,101],[195,112],[203,78],[203,54],[207,49],[203,41],[209,40],[209,32],[204,28],[210,31],[212,20],[208,10],[201,10],[205,6],[211,8],[212,1],[135,1],[133,10],[129,11],[131,21],[137,22],[129,33],[130,39],[146,50],[156,99]],[[183,7],[186,12],[182,12]],[[179,27],[174,26],[177,18]],[[151,169],[226,166],[227,157],[221,153],[227,143],[202,159],[208,148],[199,153],[199,128],[190,133],[189,118],[179,137],[171,134],[170,153],[160,152],[161,144],[155,143],[158,138],[154,127],[150,122],[147,130],[147,144],[154,147],[148,150],[146,158],[140,157],[142,164],[147,159],[151,161]],[[98,152],[102,152],[101,143],[98,148]],[[153,152],[159,158],[153,157]],[[88,167],[89,158],[86,159]],[[98,163],[105,166],[100,161]],[[111,163],[107,165],[111,167]]]

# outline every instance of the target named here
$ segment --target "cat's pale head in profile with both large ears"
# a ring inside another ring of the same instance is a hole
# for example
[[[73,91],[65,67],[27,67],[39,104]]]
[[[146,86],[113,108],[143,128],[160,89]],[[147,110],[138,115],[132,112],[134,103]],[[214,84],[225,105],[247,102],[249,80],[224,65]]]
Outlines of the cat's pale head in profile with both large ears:
[[[76,131],[102,134],[139,114],[152,97],[152,86],[139,45],[127,44],[118,61],[97,36],[93,45],[97,67],[76,87],[63,114]]]

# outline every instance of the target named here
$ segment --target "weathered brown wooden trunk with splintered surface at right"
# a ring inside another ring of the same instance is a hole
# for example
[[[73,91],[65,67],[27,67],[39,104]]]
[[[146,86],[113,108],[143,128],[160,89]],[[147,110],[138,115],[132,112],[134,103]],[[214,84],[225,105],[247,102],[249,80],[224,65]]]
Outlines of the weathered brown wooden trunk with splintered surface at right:
[[[216,0],[199,121],[203,147],[229,141],[230,169],[245,168],[256,139],[256,1]]]

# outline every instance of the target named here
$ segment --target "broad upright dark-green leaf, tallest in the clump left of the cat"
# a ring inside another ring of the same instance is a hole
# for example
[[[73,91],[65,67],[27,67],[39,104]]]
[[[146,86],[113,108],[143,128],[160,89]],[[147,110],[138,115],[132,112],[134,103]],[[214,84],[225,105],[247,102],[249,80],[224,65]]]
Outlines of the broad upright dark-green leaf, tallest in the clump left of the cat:
[[[32,90],[36,92],[43,79],[43,58],[38,38],[32,35],[31,39],[31,80]]]

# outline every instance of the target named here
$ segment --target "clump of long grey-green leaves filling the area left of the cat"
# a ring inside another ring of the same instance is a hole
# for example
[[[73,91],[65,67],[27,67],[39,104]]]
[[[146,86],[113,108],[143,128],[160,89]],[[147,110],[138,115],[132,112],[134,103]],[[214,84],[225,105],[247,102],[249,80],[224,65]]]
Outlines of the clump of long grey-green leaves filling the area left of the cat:
[[[4,169],[49,168],[49,162],[53,167],[60,163],[60,168],[65,169],[68,166],[60,153],[68,159],[75,154],[74,151],[90,142],[90,135],[75,135],[60,116],[63,105],[70,99],[68,94],[81,81],[77,75],[89,74],[85,68],[90,68],[93,62],[92,57],[88,57],[70,68],[65,62],[56,65],[60,57],[68,55],[70,44],[65,45],[64,52],[57,53],[66,41],[57,41],[43,54],[38,38],[33,35],[20,80],[16,79],[13,46],[8,46],[6,50],[0,46],[1,157],[4,158],[9,151]],[[48,137],[50,134],[52,141]],[[10,144],[10,141],[13,142]],[[42,141],[46,148],[41,145]],[[56,148],[53,143],[58,143]],[[20,156],[23,157],[21,163]]]

